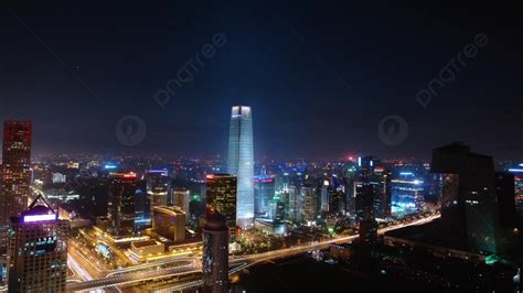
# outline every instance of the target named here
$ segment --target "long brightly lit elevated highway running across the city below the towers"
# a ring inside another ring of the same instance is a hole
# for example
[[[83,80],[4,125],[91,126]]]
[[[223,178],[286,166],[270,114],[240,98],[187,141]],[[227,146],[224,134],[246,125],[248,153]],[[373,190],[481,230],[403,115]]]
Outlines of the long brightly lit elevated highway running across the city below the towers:
[[[395,226],[380,229],[378,234],[383,235],[391,230],[401,229],[408,226],[427,224],[437,218],[439,218],[439,215],[418,219],[412,223],[398,224]],[[353,236],[348,236],[348,237],[333,238],[333,239],[329,239],[324,241],[316,241],[316,242],[299,245],[299,246],[264,252],[264,253],[231,257],[230,264],[232,265],[243,264],[243,268],[247,268],[263,261],[292,257],[292,256],[301,254],[311,250],[324,249],[324,248],[328,248],[332,243],[350,242],[350,241],[355,240],[357,237],[359,235],[353,235]],[[200,260],[195,260],[195,258],[190,258],[190,259],[192,259],[193,261],[190,261],[190,260],[180,261],[179,259],[172,259],[169,261],[167,260],[161,261],[160,262],[161,264],[158,264],[159,262],[146,263],[146,264],[138,265],[138,268],[131,267],[131,268],[117,271],[104,279],[87,280],[79,283],[67,283],[67,291],[87,291],[87,290],[95,290],[95,289],[102,289],[102,287],[108,287],[108,286],[115,286],[115,285],[128,285],[132,283],[140,283],[145,281],[156,280],[156,279],[164,279],[164,278],[170,278],[170,276],[175,276],[175,275],[201,272]],[[142,269],[150,269],[158,265],[173,264],[175,262],[181,262],[181,263],[185,262],[185,263],[174,267],[174,268],[161,268],[159,270],[137,271],[137,270],[142,270]],[[75,264],[72,264],[72,265],[74,267]],[[74,269],[73,271],[82,275],[81,270]],[[233,272],[235,270],[233,270]],[[195,282],[182,284],[183,289],[189,289],[191,287],[191,285],[198,286],[198,285],[201,285],[201,282],[195,281]]]

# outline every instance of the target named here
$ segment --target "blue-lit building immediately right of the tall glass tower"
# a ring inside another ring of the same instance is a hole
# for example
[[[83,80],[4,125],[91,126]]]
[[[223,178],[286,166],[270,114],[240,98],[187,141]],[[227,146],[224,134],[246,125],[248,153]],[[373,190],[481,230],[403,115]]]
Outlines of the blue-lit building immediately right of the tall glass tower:
[[[256,176],[254,178],[254,214],[256,217],[270,217],[274,197],[275,178],[268,175]]]

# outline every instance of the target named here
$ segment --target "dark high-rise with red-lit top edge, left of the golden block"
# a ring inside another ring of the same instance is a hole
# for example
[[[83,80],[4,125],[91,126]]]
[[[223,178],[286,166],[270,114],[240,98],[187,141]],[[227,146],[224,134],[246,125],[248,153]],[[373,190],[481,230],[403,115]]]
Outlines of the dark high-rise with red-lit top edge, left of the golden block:
[[[115,238],[135,234],[136,188],[137,178],[135,173],[110,174],[107,218],[109,220],[109,234]]]

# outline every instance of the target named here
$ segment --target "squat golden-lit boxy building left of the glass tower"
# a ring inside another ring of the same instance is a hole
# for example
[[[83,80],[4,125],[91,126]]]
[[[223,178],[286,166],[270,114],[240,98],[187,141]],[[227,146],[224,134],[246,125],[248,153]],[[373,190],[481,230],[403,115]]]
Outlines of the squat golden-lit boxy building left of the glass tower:
[[[185,240],[185,213],[180,207],[156,206],[152,210],[152,229],[171,240]]]

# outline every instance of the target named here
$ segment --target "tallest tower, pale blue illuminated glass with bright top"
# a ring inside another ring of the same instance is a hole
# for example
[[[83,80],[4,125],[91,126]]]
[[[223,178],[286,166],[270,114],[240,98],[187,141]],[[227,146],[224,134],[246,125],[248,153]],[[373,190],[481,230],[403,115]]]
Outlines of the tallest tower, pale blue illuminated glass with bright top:
[[[227,172],[237,176],[236,224],[254,223],[254,146],[250,107],[235,106],[231,115]]]

